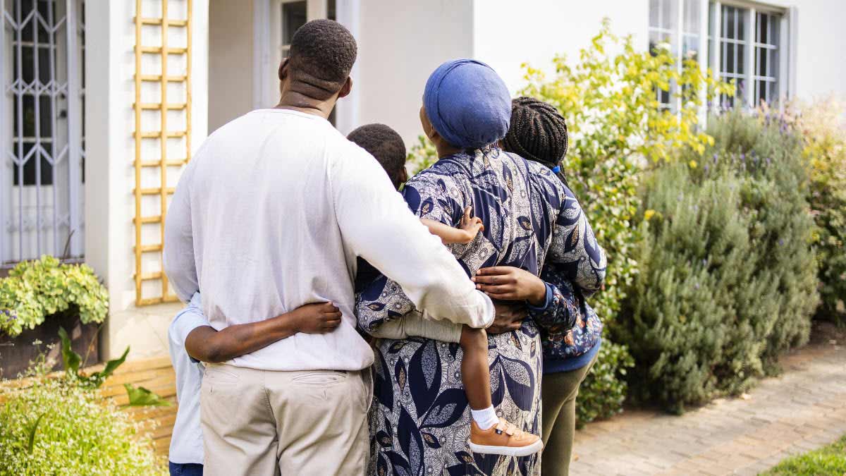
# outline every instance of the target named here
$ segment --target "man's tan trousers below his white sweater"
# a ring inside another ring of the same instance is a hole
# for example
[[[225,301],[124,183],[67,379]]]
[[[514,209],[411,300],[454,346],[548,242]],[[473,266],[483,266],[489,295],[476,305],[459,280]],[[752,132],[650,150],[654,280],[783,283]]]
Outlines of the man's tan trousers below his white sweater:
[[[206,476],[364,474],[370,370],[273,372],[206,367]]]

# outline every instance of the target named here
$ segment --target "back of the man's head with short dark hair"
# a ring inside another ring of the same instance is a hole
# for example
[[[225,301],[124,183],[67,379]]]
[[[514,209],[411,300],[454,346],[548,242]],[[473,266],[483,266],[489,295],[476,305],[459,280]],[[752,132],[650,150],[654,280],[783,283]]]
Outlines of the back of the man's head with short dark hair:
[[[294,32],[288,56],[294,91],[328,99],[353,69],[358,47],[349,30],[331,19],[316,19]]]

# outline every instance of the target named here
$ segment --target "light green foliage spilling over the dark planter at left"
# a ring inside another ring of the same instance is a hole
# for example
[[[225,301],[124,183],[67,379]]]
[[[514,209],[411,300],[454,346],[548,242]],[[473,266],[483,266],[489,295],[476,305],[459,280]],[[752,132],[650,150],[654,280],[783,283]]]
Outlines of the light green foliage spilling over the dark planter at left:
[[[0,279],[0,331],[10,337],[66,311],[79,313],[83,324],[106,318],[108,292],[85,264],[43,256],[18,263],[8,278]]]

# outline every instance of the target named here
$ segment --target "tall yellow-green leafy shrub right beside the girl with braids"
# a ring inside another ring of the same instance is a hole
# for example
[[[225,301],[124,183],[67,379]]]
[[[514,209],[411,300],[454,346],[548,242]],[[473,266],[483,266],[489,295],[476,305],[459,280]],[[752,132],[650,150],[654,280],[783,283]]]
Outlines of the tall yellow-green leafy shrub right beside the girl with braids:
[[[563,56],[553,64],[551,78],[524,65],[528,85],[521,94],[553,104],[567,119],[563,171],[608,255],[605,289],[591,298],[591,306],[614,338],[621,302],[638,274],[634,252],[640,237],[631,221],[640,206],[640,177],[651,163],[672,162],[681,150],[705,151],[712,138],[698,125],[700,108],[719,94],[733,95],[734,88],[703,73],[692,59],[679,65],[666,45],[638,51],[630,36],[613,35],[607,19],[576,64]],[[673,108],[662,108],[659,90],[672,90]],[[581,422],[613,415],[625,397],[623,364],[631,359],[611,339],[602,346],[580,390]],[[612,356],[617,358],[602,365]],[[596,401],[604,403],[596,407]]]

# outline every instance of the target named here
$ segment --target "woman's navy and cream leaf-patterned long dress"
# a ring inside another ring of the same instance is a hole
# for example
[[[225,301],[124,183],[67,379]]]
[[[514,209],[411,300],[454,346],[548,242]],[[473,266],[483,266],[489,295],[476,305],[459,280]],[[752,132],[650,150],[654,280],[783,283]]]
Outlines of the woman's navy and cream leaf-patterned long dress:
[[[450,245],[473,275],[488,266],[538,274],[559,263],[585,289],[602,283],[605,257],[572,193],[552,172],[496,147],[442,158],[404,188],[421,218],[456,226],[467,206],[485,224],[469,244]],[[414,309],[384,276],[356,306],[360,328],[374,331]],[[541,431],[541,340],[536,324],[488,338],[497,414],[534,434]],[[540,458],[470,452],[470,407],[461,383],[458,344],[418,337],[380,340],[374,366],[369,473],[396,476],[537,474]]]

